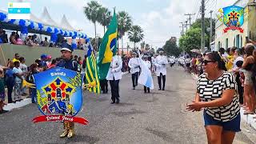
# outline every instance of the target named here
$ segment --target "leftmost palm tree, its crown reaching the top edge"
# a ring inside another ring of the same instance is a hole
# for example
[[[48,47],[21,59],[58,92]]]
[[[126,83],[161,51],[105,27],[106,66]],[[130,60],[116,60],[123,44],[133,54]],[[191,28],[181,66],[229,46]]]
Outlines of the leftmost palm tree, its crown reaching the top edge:
[[[99,10],[102,6],[97,1],[90,1],[87,3],[87,6],[84,7],[84,14],[91,22],[94,23],[94,31],[96,38],[96,22],[99,21],[100,14]]]

